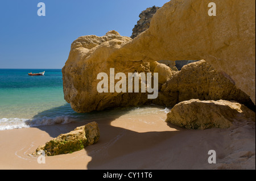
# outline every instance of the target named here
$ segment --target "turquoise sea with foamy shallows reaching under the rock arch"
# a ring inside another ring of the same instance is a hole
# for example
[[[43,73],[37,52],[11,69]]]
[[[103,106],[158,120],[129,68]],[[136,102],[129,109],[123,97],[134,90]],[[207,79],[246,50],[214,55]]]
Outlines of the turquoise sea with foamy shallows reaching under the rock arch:
[[[43,76],[28,75],[42,71],[46,71]],[[0,131],[168,111],[152,105],[77,113],[64,100],[61,69],[0,69]]]

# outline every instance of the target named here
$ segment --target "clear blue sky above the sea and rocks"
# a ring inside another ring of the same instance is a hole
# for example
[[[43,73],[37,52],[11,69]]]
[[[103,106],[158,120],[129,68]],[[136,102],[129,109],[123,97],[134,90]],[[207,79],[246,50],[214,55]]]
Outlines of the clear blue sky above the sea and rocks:
[[[46,16],[38,16],[39,2]],[[61,69],[79,36],[131,36],[139,14],[168,0],[0,1],[0,69]]]

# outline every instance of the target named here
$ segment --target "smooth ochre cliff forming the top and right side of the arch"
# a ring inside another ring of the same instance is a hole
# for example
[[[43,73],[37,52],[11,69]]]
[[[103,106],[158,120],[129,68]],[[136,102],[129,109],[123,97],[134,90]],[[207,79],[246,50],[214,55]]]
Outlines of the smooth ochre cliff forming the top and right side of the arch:
[[[115,61],[206,60],[224,71],[255,104],[255,1],[172,0],[153,16],[148,30],[118,49]]]

